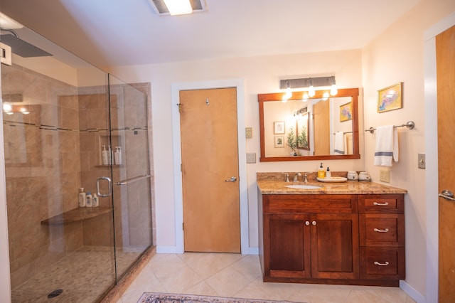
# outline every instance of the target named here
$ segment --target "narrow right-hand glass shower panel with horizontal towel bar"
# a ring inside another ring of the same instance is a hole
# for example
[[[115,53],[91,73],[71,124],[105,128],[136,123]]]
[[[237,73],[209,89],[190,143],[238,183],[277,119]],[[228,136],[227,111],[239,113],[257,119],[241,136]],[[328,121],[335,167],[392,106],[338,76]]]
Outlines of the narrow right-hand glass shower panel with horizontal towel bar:
[[[141,91],[145,88],[133,87],[109,75],[117,279],[151,246],[147,98]]]

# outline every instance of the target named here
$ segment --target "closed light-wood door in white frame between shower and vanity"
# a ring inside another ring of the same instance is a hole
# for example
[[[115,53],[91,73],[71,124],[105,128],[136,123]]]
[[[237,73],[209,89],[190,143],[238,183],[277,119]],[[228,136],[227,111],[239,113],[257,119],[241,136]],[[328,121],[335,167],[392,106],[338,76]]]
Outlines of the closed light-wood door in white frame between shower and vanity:
[[[181,91],[180,103],[185,251],[240,252],[237,89]]]

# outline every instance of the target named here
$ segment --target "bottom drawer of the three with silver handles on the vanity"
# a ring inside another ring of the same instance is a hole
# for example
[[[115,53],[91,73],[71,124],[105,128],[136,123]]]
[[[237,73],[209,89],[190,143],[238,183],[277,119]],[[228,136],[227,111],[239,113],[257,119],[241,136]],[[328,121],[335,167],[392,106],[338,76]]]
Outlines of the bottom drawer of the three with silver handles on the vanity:
[[[405,279],[405,248],[360,248],[360,279]]]

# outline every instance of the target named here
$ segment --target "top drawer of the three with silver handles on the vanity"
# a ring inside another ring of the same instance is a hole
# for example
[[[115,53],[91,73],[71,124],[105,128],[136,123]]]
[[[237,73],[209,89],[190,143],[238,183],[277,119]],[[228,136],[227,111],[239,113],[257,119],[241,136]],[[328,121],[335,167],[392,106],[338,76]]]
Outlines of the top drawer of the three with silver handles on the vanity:
[[[359,213],[404,213],[405,202],[402,194],[359,195]]]

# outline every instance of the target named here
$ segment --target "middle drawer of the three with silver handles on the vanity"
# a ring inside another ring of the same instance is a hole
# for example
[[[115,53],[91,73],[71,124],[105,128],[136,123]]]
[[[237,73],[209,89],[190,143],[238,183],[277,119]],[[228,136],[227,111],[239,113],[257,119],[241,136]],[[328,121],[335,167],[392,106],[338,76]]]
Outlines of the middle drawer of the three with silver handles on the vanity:
[[[360,246],[405,246],[405,215],[360,214]]]

